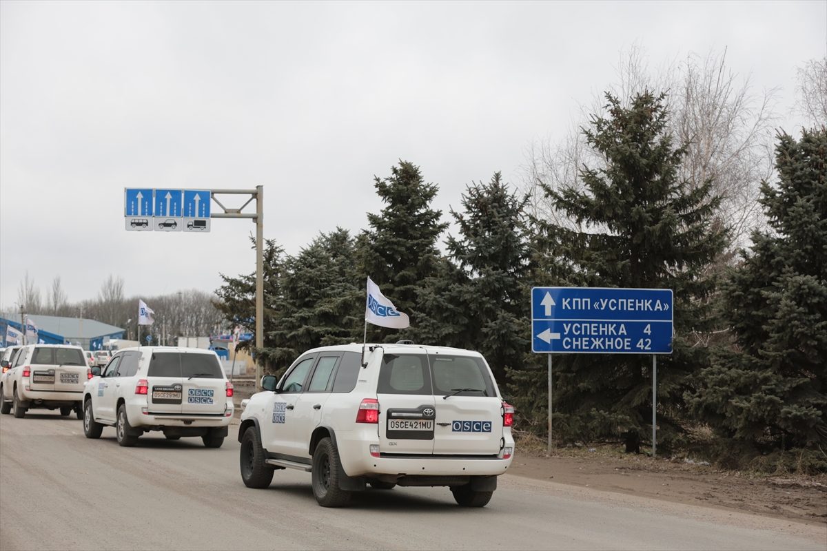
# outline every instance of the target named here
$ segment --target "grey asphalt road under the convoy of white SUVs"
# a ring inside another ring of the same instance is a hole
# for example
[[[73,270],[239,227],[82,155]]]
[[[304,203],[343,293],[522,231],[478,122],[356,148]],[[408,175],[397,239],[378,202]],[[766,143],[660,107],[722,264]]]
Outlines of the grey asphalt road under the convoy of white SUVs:
[[[84,437],[55,413],[0,418],[0,549],[825,549],[825,530],[500,477],[482,509],[447,488],[356,494],[316,504],[310,475],[244,486],[237,426],[221,449],[112,428]]]

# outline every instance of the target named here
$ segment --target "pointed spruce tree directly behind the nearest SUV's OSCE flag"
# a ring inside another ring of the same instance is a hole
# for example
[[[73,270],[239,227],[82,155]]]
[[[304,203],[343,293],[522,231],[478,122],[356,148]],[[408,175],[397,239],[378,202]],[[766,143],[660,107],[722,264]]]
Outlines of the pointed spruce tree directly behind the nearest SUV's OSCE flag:
[[[447,228],[439,221],[442,211],[431,208],[437,186],[425,183],[419,167],[399,161],[390,178],[375,178],[375,188],[385,208],[378,215],[368,213],[370,230],[358,238],[360,285],[370,277],[399,311],[410,315],[417,309],[424,279],[437,273],[437,237]],[[356,334],[361,337],[360,331]],[[370,325],[368,335],[368,340],[384,342],[404,338],[409,331]]]

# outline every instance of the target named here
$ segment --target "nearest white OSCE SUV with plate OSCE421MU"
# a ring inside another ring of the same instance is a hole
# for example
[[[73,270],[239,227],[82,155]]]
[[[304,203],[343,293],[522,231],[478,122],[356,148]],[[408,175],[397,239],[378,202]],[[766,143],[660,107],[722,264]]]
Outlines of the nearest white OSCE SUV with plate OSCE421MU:
[[[404,341],[403,341],[404,342]],[[312,474],[321,506],[366,484],[450,487],[485,506],[512,461],[514,408],[476,352],[415,344],[312,349],[264,392],[242,401],[241,479],[270,485],[275,469]]]

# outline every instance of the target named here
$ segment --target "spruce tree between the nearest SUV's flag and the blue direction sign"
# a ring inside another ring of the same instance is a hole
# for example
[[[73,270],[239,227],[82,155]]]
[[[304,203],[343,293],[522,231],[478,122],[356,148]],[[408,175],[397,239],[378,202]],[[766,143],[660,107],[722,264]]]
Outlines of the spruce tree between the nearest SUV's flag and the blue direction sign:
[[[459,238],[448,237],[448,258],[419,293],[413,332],[423,344],[478,350],[500,382],[522,362],[529,342],[526,202],[509,192],[500,173],[467,188],[463,211],[451,211]]]

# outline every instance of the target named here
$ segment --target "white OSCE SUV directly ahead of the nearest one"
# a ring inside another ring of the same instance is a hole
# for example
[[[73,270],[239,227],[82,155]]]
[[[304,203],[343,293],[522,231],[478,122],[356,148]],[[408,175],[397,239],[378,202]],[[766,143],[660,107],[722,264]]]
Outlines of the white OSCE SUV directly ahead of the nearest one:
[[[142,346],[118,350],[84,392],[84,434],[114,426],[117,443],[134,446],[150,430],[167,439],[200,436],[220,448],[232,420],[232,383],[218,356],[203,349]]]

